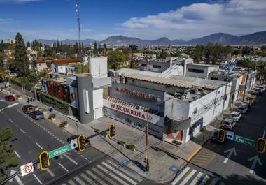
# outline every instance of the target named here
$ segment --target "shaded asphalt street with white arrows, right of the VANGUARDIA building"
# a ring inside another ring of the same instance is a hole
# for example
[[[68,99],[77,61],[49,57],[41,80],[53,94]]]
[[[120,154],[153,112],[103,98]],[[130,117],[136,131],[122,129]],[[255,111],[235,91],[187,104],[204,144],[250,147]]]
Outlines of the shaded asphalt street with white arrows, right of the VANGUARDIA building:
[[[251,140],[262,138],[266,126],[266,92],[242,115],[235,135]],[[234,152],[235,150],[235,152]],[[231,155],[230,155],[231,151]],[[236,154],[236,155],[235,155]],[[254,158],[257,161],[254,162]],[[266,153],[255,147],[226,139],[225,143],[207,142],[202,150],[179,173],[175,184],[266,184]],[[182,176],[182,177],[181,177]],[[186,182],[186,183],[185,183]]]

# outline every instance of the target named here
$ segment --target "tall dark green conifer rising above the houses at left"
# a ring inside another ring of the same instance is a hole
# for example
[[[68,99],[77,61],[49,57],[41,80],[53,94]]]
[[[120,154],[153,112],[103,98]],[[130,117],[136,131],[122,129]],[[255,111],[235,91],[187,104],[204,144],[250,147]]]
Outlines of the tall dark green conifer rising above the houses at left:
[[[29,58],[20,33],[15,36],[15,68],[21,76],[29,74]]]

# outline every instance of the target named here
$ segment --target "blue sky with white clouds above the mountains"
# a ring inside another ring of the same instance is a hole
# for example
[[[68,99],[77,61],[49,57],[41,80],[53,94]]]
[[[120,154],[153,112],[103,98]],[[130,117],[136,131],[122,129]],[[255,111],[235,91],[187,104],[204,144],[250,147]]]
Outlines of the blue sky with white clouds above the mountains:
[[[81,39],[266,31],[266,0],[79,0]],[[78,39],[76,0],[0,0],[0,38]]]

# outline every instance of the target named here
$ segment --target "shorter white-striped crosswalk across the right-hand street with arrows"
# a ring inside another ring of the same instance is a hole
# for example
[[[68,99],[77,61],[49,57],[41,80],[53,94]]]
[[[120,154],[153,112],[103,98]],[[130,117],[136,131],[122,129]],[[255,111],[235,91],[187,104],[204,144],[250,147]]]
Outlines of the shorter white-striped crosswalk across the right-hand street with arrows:
[[[218,177],[198,172],[198,170],[187,166],[179,175],[173,180],[171,185],[225,185]]]

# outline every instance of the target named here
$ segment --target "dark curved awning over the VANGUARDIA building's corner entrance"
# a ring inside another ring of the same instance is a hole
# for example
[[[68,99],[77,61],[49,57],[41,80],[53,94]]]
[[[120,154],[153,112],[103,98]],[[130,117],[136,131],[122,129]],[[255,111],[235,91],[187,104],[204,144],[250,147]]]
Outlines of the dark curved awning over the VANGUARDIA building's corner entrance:
[[[183,131],[190,128],[191,118],[176,120],[167,116],[165,123],[167,124],[167,128],[171,129],[173,132]]]

